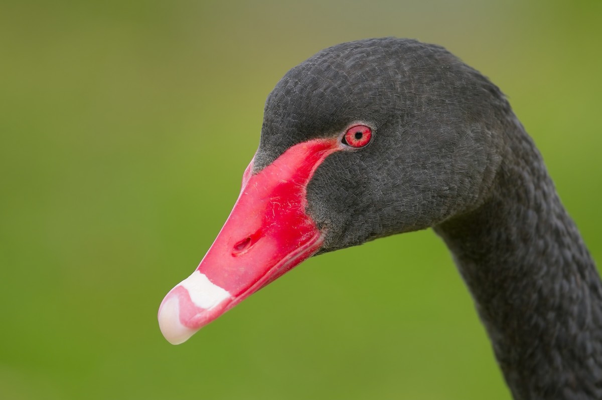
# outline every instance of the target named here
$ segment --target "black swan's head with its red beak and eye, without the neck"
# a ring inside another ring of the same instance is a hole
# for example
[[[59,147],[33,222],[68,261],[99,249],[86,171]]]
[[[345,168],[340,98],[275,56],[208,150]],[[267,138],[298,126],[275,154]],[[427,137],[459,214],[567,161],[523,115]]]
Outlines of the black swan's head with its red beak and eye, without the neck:
[[[445,49],[384,38],[318,52],[276,84],[238,200],[161,331],[194,332],[307,257],[479,206],[504,151],[503,94]]]

